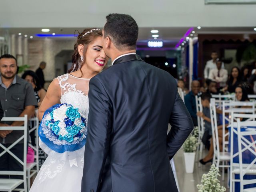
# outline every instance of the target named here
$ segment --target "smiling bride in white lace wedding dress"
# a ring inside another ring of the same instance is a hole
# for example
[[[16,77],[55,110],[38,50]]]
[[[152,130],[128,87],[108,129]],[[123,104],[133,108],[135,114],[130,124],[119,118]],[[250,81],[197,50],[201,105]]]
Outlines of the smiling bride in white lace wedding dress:
[[[88,90],[90,78],[102,71],[107,57],[102,48],[102,31],[85,29],[78,35],[72,57],[73,65],[67,74],[58,76],[50,84],[39,110],[44,112],[55,104],[71,104],[81,116],[88,118]],[[38,172],[30,192],[80,192],[84,166],[84,146],[75,151],[58,153],[42,140],[40,147],[48,154]]]

